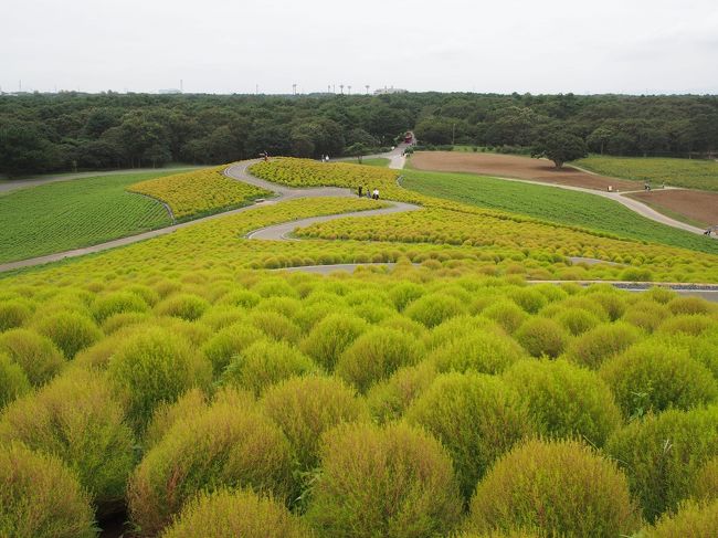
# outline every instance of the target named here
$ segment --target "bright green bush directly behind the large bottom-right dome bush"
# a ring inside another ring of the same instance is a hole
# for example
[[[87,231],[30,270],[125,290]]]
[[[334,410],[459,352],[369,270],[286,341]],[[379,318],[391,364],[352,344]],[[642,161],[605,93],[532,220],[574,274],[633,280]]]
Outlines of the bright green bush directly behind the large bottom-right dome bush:
[[[521,360],[504,379],[526,402],[541,434],[581,436],[602,446],[621,425],[621,411],[603,380],[566,360]]]

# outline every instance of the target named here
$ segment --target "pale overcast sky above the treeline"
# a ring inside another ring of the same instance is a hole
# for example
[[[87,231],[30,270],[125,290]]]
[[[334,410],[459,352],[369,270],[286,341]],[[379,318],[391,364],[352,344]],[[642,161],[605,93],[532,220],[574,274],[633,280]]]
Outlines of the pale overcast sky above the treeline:
[[[0,6],[3,92],[718,93],[716,0]]]

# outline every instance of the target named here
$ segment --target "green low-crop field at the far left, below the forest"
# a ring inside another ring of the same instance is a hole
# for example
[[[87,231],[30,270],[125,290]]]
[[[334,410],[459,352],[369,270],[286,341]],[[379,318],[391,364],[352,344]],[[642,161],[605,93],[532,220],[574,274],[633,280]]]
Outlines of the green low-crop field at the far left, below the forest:
[[[0,196],[0,262],[170,225],[161,203],[125,191],[137,181],[170,173],[177,170],[75,179]]]

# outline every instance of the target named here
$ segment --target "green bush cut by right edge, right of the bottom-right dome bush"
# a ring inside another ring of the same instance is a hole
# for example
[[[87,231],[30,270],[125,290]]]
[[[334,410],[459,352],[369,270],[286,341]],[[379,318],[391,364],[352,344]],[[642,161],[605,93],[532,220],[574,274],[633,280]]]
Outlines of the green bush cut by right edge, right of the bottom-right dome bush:
[[[698,472],[718,455],[718,408],[648,415],[611,435],[605,451],[625,470],[653,521],[689,496]]]

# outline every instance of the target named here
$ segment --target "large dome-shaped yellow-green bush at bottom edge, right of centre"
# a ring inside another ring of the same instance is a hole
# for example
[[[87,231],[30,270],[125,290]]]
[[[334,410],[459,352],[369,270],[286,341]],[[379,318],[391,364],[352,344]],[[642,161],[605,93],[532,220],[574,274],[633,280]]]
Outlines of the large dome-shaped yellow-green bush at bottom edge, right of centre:
[[[501,457],[478,484],[468,525],[614,538],[638,530],[641,517],[614,463],[576,441],[534,440]]]

